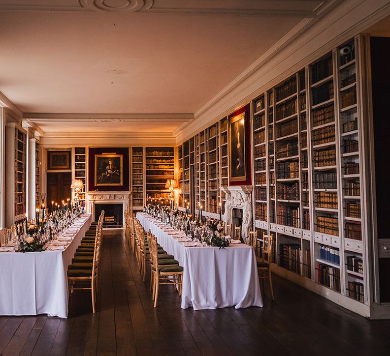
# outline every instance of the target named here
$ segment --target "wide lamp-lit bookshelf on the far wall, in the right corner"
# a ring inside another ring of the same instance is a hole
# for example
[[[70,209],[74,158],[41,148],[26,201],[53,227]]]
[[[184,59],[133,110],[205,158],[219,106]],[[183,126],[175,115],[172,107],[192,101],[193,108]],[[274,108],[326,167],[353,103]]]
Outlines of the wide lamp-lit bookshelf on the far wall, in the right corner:
[[[166,201],[170,194],[165,188],[168,179],[174,179],[173,147],[145,147],[146,199]]]

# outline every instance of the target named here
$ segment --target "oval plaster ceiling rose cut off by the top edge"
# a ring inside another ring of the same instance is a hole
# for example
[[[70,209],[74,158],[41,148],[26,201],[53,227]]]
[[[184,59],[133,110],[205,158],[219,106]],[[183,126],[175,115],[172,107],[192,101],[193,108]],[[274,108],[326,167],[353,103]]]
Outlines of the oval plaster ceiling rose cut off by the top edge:
[[[137,12],[152,5],[153,0],[80,0],[83,8],[109,12]]]

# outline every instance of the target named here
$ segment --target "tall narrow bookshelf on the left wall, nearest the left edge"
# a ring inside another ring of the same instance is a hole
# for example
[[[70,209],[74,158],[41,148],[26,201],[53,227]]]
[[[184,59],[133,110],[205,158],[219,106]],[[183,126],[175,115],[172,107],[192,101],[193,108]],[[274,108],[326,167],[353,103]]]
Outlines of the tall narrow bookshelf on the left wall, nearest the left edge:
[[[15,200],[14,222],[26,216],[26,140],[24,131],[15,128]]]

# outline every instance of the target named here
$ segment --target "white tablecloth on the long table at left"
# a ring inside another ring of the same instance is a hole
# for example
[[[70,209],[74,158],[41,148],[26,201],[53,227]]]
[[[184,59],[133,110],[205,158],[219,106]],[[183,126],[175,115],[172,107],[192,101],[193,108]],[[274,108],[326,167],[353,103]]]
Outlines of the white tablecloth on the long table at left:
[[[68,316],[68,266],[88,230],[92,216],[82,223],[62,251],[0,252],[0,315]]]

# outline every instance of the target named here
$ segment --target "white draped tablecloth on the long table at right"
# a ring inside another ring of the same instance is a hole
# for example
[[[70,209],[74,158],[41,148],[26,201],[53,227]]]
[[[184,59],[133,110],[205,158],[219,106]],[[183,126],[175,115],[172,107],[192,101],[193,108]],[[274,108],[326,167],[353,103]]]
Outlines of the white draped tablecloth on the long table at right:
[[[138,213],[137,219],[183,266],[183,309],[263,307],[256,256],[250,246],[184,247],[157,226],[149,215]]]

